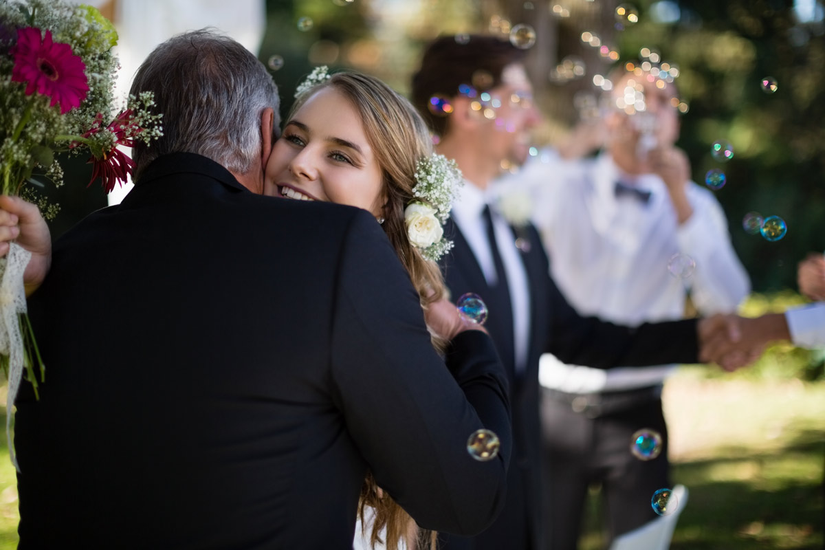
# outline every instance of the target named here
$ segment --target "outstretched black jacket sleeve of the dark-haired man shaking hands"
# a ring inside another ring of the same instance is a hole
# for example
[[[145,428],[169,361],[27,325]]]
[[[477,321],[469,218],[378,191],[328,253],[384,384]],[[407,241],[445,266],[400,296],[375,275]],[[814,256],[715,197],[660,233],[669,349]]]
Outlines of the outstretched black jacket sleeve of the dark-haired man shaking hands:
[[[698,362],[696,319],[646,322],[625,327],[582,317],[564,298],[551,277],[548,348],[559,360],[596,369]]]

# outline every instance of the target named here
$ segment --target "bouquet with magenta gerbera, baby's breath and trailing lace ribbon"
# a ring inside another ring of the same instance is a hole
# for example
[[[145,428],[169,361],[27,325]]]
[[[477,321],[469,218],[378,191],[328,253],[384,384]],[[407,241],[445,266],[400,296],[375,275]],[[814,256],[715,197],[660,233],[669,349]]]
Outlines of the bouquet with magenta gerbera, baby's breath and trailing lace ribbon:
[[[54,153],[89,155],[92,181],[106,192],[122,185],[134,163],[117,146],[161,135],[162,115],[152,115],[151,94],[130,96],[115,115],[117,59],[114,26],[94,7],[64,0],[0,2],[0,185],[22,195],[45,218],[57,213],[40,199],[38,179],[63,184]],[[91,184],[91,181],[90,181]],[[0,259],[0,365],[9,380],[7,435],[23,370],[37,395],[45,368],[26,317],[23,272],[31,255],[12,242]],[[11,441],[9,450],[15,462]]]

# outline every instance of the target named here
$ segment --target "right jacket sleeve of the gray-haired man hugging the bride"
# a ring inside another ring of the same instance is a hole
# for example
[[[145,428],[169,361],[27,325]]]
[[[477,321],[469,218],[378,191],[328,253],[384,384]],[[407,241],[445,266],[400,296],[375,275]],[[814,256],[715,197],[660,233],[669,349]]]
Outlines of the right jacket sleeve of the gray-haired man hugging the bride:
[[[493,341],[456,336],[433,349],[418,295],[375,219],[353,217],[337,273],[332,382],[347,429],[380,487],[419,525],[472,535],[504,503],[512,440],[507,378]],[[467,451],[493,430],[497,456]]]

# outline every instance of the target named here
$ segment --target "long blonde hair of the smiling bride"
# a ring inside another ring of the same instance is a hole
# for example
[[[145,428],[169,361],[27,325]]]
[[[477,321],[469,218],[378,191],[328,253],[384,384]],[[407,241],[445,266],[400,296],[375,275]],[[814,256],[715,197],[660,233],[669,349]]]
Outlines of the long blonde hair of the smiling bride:
[[[315,92],[332,87],[349,100],[358,112],[370,147],[381,167],[384,180],[384,223],[382,227],[392,243],[398,259],[406,268],[413,286],[418,292],[422,308],[427,308],[447,295],[441,270],[434,261],[425,260],[410,242],[404,223],[404,209],[413,200],[417,162],[432,154],[432,142],[427,124],[415,108],[403,96],[378,78],[361,73],[336,73],[299,94],[287,115],[291,120],[295,111]],[[433,346],[443,350],[446,342],[432,336]],[[406,537],[415,526],[413,519],[391,496],[375,483],[367,472],[361,488],[358,510],[365,525],[365,507],[375,509],[370,544],[380,543],[380,531],[387,529],[387,550],[396,550],[398,541]],[[435,548],[436,533],[417,529],[419,548]]]

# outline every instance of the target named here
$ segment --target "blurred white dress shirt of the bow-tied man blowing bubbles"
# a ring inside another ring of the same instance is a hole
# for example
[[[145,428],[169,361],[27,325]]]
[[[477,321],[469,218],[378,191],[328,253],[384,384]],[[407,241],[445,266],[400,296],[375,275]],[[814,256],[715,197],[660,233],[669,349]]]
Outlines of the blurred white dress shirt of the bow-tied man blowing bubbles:
[[[617,197],[620,180],[649,191],[647,204],[629,195]],[[544,152],[500,181],[498,192],[507,192],[503,186],[516,186],[519,190],[512,192],[528,193],[534,201],[533,218],[550,257],[550,272],[582,315],[630,326],[680,319],[687,289],[701,313],[730,313],[750,291],[719,202],[692,181],[686,191],[693,214],[681,225],[659,176],[624,175],[604,153],[563,162]],[[677,253],[695,261],[689,278],[678,279],[668,269]],[[662,383],[671,369],[590,369],[545,354],[540,382],[571,393],[615,391]]]

